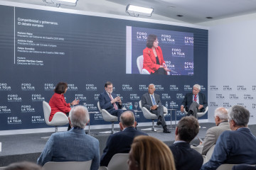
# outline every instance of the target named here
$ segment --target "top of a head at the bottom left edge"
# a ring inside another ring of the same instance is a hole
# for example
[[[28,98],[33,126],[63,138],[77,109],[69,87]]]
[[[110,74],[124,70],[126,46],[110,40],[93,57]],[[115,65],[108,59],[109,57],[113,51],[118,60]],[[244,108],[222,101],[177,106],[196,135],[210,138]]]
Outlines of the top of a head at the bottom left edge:
[[[16,162],[10,164],[4,170],[42,170],[42,168],[32,162]]]

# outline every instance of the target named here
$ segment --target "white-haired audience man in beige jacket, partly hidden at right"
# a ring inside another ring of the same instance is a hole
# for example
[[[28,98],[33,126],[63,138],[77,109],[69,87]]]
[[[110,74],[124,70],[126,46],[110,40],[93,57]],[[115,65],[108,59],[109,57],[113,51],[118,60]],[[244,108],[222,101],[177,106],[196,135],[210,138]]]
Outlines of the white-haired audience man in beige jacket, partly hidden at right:
[[[216,108],[214,112],[214,119],[216,126],[210,128],[206,132],[206,137],[203,139],[203,152],[206,154],[210,147],[216,144],[218,137],[225,130],[230,130],[230,125],[228,123],[228,110],[226,108]]]

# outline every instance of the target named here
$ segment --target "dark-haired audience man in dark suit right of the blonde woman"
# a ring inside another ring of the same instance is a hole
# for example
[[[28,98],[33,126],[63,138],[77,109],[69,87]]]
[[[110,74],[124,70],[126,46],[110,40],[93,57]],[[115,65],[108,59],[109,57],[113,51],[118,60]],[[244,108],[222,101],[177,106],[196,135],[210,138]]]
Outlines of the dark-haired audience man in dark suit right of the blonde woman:
[[[203,164],[202,155],[192,149],[189,142],[199,132],[199,123],[193,116],[186,116],[178,121],[175,130],[175,142],[171,145],[171,152],[174,154],[176,170],[199,170]]]

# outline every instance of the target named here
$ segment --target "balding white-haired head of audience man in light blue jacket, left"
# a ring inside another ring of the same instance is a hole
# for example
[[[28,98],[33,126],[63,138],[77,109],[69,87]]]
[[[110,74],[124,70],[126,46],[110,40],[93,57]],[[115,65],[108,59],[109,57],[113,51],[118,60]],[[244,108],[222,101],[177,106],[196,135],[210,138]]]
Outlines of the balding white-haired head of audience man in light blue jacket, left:
[[[69,113],[69,119],[72,127],[85,128],[89,118],[88,110],[84,106],[75,106]]]

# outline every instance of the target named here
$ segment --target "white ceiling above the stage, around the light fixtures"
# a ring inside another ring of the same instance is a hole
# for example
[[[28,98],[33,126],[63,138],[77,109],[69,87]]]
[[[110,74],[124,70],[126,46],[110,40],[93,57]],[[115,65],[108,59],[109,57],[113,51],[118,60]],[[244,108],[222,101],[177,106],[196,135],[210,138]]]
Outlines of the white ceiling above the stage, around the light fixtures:
[[[24,4],[55,6],[43,0],[9,0]],[[50,2],[51,0],[46,0]],[[81,11],[128,16],[128,4],[154,8],[151,18],[183,23],[201,23],[243,14],[256,13],[256,0],[78,0],[77,6],[60,6]],[[178,17],[182,15],[183,17]],[[142,16],[143,17],[143,16]],[[146,18],[146,17],[143,17]]]

